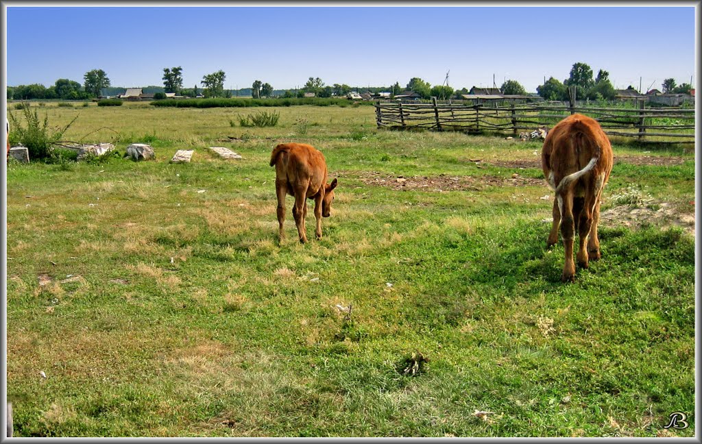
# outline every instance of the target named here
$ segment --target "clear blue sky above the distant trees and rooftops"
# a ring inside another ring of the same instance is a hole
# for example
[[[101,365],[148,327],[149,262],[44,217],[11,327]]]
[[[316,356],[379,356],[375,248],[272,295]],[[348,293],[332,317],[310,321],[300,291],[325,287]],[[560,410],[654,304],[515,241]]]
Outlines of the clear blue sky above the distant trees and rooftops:
[[[450,70],[453,88],[494,76],[534,92],[575,62],[607,70],[615,88],[697,81],[694,6],[193,5],[8,6],[7,84],[83,83],[103,69],[112,86],[162,86],[164,67],[181,66],[186,88],[219,69],[225,88],[296,88],[310,76],[405,86],[415,76],[442,84]]]

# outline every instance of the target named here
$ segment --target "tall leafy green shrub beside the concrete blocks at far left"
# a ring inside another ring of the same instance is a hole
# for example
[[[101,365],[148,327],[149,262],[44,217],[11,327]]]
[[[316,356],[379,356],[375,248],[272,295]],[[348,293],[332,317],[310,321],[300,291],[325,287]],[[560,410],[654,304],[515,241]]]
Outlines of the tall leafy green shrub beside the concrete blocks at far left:
[[[51,157],[52,145],[58,142],[66,130],[78,119],[78,116],[75,116],[65,127],[52,130],[48,126],[48,115],[44,116],[42,123],[37,109],[32,112],[29,107],[24,107],[22,112],[25,114],[26,127],[20,125],[20,121],[14,114],[10,113],[9,118],[12,121],[13,138],[27,147],[29,159],[48,159]]]

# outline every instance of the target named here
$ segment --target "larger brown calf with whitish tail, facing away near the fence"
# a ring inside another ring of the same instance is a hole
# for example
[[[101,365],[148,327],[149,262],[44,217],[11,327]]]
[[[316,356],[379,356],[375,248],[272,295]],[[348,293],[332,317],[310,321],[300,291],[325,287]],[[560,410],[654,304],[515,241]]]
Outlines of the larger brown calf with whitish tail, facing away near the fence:
[[[575,280],[573,241],[578,230],[578,266],[588,268],[588,259],[598,260],[600,240],[600,196],[612,169],[612,149],[600,123],[582,114],[566,117],[548,132],[541,151],[543,175],[555,191],[553,225],[548,246],[558,242],[560,224],[565,248],[563,282]],[[587,248],[585,248],[587,243]]]

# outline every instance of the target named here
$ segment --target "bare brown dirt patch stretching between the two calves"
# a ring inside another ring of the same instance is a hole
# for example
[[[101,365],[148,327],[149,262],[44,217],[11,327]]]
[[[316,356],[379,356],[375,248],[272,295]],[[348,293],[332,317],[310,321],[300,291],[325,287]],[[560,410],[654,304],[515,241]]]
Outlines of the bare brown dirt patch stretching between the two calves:
[[[530,185],[543,186],[544,181],[533,177],[498,177],[484,176],[404,176],[388,175],[375,171],[339,172],[340,177],[358,178],[362,182],[376,187],[388,187],[397,190],[419,189],[423,191],[479,191],[486,187],[527,187]]]

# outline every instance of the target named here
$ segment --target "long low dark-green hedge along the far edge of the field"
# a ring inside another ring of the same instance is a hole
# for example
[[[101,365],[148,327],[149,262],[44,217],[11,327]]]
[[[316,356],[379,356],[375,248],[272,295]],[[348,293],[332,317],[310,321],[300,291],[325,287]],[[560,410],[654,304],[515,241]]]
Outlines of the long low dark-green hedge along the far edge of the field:
[[[326,107],[338,105],[347,107],[350,105],[373,105],[373,102],[350,102],[346,97],[290,97],[285,99],[237,99],[237,98],[215,98],[215,99],[183,99],[183,100],[154,100],[151,105],[154,107],[180,107],[180,108],[218,108],[218,107],[291,107],[296,105],[317,105]]]

